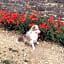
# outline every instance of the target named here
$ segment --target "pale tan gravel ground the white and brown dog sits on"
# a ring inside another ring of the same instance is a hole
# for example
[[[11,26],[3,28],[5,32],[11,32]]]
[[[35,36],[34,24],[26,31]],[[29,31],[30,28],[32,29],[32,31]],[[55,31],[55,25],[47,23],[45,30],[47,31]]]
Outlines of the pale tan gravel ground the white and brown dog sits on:
[[[64,64],[63,47],[42,41],[32,50],[23,42],[16,43],[19,36],[0,29],[0,60],[9,60],[11,64]]]

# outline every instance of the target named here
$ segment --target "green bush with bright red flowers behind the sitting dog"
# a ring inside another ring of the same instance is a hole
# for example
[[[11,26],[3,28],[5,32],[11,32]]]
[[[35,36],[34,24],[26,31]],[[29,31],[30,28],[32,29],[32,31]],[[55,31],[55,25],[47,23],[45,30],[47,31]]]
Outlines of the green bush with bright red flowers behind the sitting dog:
[[[27,8],[30,7],[27,6]],[[64,46],[64,22],[61,22],[60,18],[54,21],[52,16],[41,19],[39,13],[39,11],[33,11],[31,15],[26,15],[25,13],[5,12],[1,9],[0,27],[8,30],[19,30],[25,34],[31,26],[37,24],[41,30],[38,35],[41,40],[53,41]]]

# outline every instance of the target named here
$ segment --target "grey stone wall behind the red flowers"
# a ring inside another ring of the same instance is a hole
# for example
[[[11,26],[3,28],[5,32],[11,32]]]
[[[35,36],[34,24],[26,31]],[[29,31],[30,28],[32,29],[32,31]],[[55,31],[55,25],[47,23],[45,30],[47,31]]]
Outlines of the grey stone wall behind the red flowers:
[[[0,8],[4,10],[16,10],[18,13],[39,10],[42,17],[54,16],[64,19],[64,0],[0,0]]]

